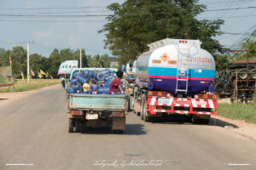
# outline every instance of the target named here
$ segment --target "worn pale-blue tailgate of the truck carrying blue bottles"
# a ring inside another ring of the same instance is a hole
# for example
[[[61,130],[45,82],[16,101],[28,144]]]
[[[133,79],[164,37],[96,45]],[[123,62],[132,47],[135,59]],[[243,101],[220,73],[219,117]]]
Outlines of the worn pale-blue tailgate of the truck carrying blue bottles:
[[[70,109],[125,110],[127,96],[119,94],[68,94]]]

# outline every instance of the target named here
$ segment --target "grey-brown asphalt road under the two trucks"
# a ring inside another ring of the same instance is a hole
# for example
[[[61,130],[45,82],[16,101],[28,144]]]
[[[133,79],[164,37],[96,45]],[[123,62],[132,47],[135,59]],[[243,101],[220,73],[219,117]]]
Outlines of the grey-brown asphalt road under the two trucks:
[[[0,100],[0,170],[256,169],[256,142],[224,122],[152,123],[129,113],[124,134],[90,127],[67,133],[65,98],[58,86]]]

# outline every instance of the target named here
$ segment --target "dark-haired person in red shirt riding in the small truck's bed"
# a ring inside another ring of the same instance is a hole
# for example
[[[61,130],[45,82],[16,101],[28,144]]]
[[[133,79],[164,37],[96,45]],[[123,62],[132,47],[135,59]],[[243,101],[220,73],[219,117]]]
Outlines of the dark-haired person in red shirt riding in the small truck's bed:
[[[123,78],[123,71],[117,71],[116,76],[109,86],[109,94],[117,94],[120,92],[124,94],[123,89],[121,88],[121,79]]]

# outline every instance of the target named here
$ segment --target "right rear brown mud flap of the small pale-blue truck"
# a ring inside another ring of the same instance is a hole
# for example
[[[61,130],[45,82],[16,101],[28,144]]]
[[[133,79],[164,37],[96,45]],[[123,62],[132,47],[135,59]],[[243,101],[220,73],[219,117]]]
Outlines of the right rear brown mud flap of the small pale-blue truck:
[[[112,113],[112,130],[125,130],[125,112]]]

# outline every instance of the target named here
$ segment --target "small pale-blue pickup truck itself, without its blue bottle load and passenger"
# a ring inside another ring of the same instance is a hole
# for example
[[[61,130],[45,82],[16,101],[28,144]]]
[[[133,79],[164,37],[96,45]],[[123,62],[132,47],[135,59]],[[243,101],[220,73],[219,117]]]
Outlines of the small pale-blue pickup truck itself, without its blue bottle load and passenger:
[[[84,70],[88,68],[75,68],[70,77]],[[107,126],[114,133],[123,133],[127,99],[123,94],[67,94],[68,132],[80,132],[84,124],[91,127]]]

